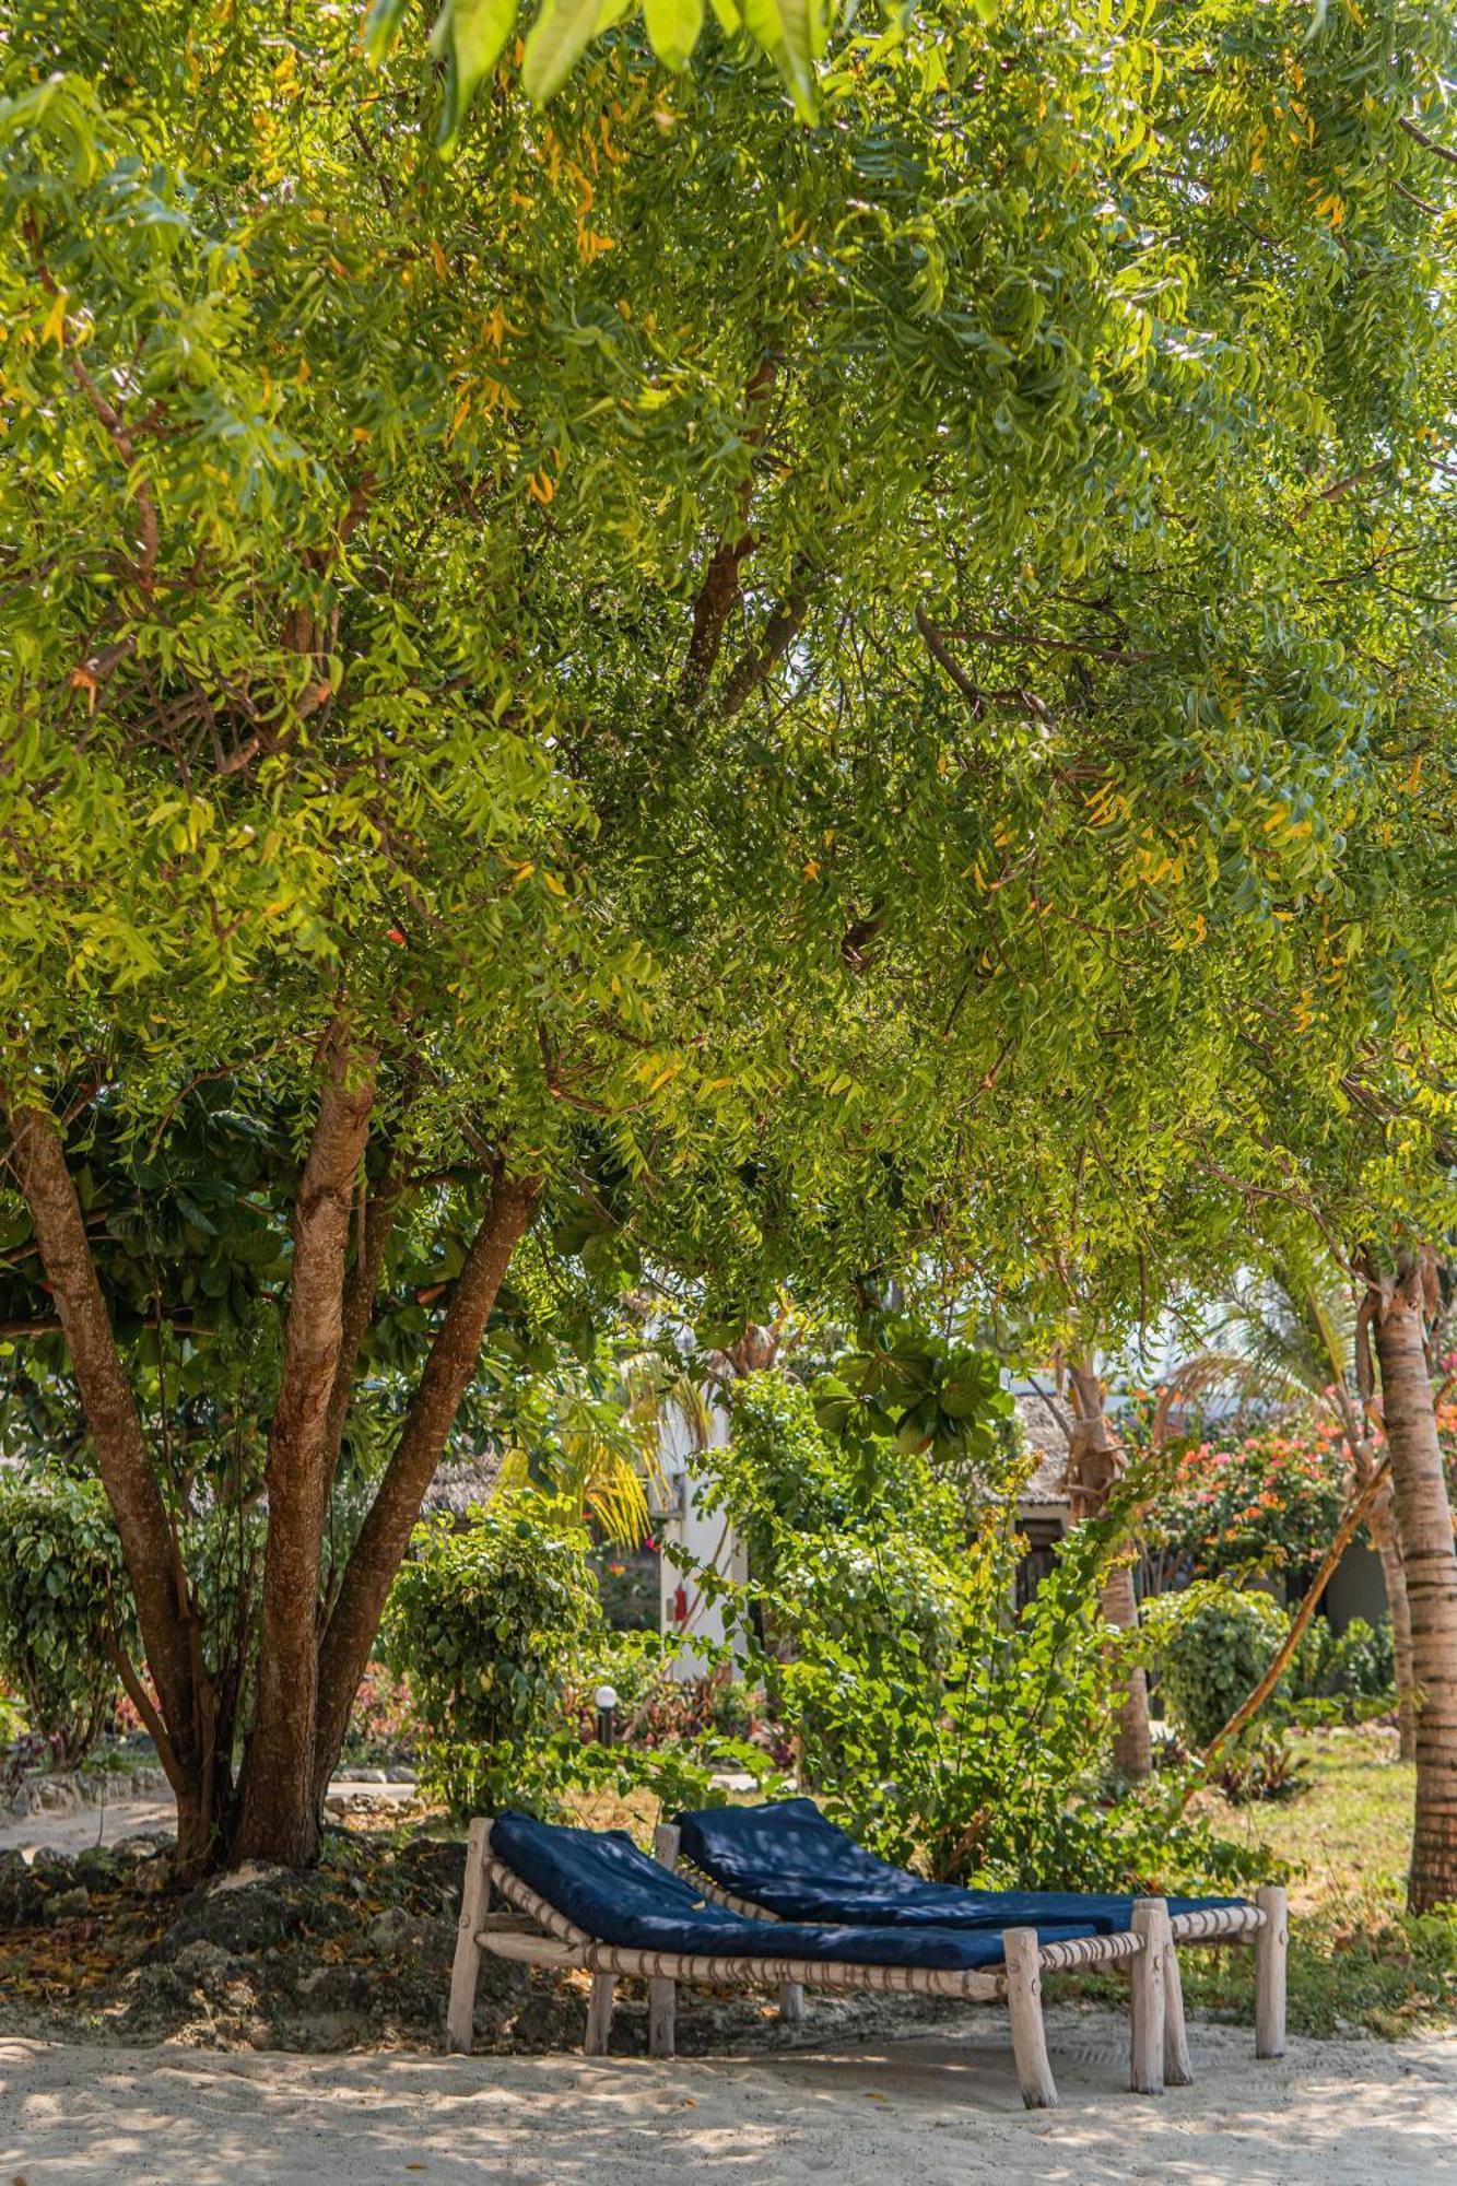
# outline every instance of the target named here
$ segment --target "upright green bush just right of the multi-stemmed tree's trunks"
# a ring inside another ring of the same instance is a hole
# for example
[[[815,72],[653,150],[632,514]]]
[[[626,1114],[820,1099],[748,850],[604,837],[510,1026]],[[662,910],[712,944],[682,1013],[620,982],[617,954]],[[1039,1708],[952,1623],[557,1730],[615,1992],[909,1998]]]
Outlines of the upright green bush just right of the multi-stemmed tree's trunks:
[[[529,1495],[420,1528],[385,1611],[385,1661],[409,1677],[422,1790],[459,1819],[551,1810],[553,1738],[575,1653],[599,1637],[586,1535]]]

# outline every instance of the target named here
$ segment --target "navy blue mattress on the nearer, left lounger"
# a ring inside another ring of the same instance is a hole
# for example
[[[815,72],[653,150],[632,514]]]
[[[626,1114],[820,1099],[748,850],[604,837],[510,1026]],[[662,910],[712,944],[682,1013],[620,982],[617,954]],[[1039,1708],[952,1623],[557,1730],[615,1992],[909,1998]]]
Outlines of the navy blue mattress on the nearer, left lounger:
[[[599,1943],[678,1950],[722,1959],[831,1959],[849,1965],[923,1965],[971,1972],[1002,1963],[993,1928],[914,1930],[860,1924],[764,1921],[728,1913],[691,1882],[639,1852],[623,1830],[562,1830],[527,1814],[501,1814],[490,1849],[523,1882]],[[1044,1941],[1096,1935],[1085,1919],[1039,1921]]]

